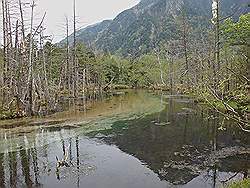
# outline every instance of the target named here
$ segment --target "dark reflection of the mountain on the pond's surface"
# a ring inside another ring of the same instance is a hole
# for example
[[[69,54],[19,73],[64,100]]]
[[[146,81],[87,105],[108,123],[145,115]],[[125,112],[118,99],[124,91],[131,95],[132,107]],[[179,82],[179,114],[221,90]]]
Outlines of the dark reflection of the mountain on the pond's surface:
[[[217,153],[224,147],[249,147],[247,133],[234,128],[230,123],[227,131],[218,132],[220,117],[218,113],[206,110],[197,113],[192,101],[185,98],[169,98],[164,111],[136,121],[127,121],[128,128],[116,132],[103,132],[112,134],[112,137],[103,136],[108,144],[114,144],[122,151],[129,153],[143,161],[158,174],[161,180],[174,185],[185,185],[209,167],[212,172],[212,187],[216,187],[220,172],[238,172],[245,174],[250,168],[250,155],[244,166],[240,165],[242,159],[236,157],[234,164],[225,165],[223,154],[218,158],[209,159],[212,153]],[[206,118],[204,117],[206,116]],[[117,127],[124,122],[117,122]],[[234,134],[230,134],[232,132]],[[218,154],[217,154],[218,155]],[[226,154],[227,155],[227,154]],[[229,155],[229,154],[228,154]],[[223,160],[221,160],[223,159]],[[218,162],[218,163],[217,163]],[[240,170],[235,168],[241,166]],[[244,175],[246,177],[246,175]]]

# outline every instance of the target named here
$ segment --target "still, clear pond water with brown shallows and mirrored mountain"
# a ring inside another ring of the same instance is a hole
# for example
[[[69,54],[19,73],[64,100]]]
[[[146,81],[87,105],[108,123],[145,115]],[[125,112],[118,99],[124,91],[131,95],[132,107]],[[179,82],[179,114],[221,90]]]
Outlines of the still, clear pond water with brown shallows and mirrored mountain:
[[[126,91],[62,106],[0,123],[0,187],[221,187],[249,176],[249,135],[232,122],[219,131],[222,120],[185,97]],[[56,173],[65,153],[70,166]]]

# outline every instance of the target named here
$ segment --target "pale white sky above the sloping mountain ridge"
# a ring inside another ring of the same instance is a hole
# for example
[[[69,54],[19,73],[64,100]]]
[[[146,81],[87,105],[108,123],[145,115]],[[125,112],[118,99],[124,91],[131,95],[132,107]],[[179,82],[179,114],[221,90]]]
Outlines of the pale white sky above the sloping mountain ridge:
[[[76,0],[78,28],[112,19],[120,12],[136,5],[140,0]],[[47,33],[53,35],[54,42],[65,37],[63,25],[65,15],[72,20],[73,0],[36,0],[36,11],[42,15],[46,11]],[[72,25],[72,23],[71,23]],[[72,27],[71,27],[72,28]]]

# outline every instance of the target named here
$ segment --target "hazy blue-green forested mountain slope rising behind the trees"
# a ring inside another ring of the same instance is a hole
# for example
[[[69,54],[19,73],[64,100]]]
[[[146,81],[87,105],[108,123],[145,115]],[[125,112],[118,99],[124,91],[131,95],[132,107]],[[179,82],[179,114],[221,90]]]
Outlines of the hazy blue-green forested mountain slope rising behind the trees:
[[[248,0],[222,0],[222,17],[249,12]],[[190,27],[210,27],[210,0],[141,0],[113,20],[106,20],[77,32],[77,41],[93,49],[122,56],[139,56],[161,41],[174,38],[176,20],[185,14]],[[69,37],[70,42],[73,36]],[[61,43],[64,43],[63,40]]]

